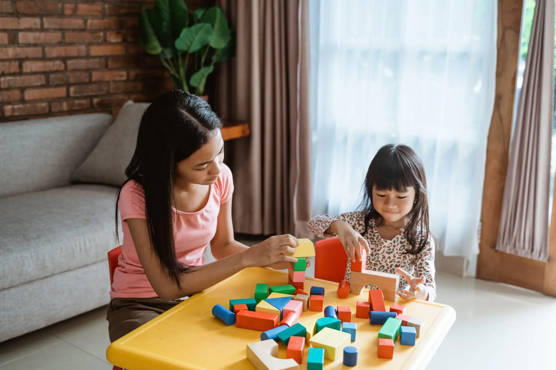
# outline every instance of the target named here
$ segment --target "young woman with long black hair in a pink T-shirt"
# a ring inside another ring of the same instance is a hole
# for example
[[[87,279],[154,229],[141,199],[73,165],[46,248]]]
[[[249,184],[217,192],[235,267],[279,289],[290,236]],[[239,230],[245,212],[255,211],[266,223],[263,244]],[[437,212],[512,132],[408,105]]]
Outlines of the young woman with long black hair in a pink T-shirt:
[[[242,268],[297,261],[286,255],[299,244],[291,235],[251,248],[234,240],[221,127],[209,104],[181,90],[143,114],[117,201],[123,244],[107,312],[112,342]],[[209,242],[217,261],[205,265]]]

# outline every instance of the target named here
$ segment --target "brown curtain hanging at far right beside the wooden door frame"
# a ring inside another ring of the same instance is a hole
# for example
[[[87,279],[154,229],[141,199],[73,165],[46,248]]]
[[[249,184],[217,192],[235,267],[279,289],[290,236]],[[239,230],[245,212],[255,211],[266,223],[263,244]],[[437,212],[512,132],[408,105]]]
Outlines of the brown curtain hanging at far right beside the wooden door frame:
[[[546,261],[554,115],[554,0],[537,0],[496,249]]]

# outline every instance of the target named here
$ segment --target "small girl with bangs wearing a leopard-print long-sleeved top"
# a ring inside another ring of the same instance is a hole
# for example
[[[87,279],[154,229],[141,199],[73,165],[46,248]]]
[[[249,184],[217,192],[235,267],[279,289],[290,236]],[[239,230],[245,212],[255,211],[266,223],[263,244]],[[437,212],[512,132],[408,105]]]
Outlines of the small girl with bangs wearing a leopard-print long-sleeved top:
[[[361,261],[363,246],[368,270],[401,275],[400,297],[434,301],[434,242],[420,158],[406,145],[383,146],[369,165],[364,189],[362,211],[316,216],[309,230],[338,236],[350,260]],[[347,263],[345,278],[350,276]]]

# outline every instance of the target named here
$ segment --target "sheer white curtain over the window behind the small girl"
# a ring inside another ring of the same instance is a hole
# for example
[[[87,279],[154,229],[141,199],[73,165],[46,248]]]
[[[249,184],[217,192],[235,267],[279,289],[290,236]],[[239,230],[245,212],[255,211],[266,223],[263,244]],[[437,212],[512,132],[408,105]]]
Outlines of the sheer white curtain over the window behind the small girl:
[[[407,144],[425,163],[440,249],[473,261],[497,1],[310,0],[309,7],[313,213],[354,210],[380,146]]]

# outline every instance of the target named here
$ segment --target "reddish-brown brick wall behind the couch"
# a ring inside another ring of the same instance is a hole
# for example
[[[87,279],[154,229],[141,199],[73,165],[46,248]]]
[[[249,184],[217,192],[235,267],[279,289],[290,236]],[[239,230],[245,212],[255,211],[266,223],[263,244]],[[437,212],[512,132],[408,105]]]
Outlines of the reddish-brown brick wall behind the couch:
[[[128,99],[171,88],[160,60],[138,43],[142,7],[152,0],[0,0],[0,121],[117,113]]]

